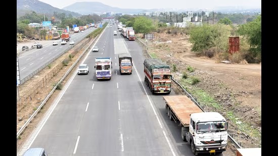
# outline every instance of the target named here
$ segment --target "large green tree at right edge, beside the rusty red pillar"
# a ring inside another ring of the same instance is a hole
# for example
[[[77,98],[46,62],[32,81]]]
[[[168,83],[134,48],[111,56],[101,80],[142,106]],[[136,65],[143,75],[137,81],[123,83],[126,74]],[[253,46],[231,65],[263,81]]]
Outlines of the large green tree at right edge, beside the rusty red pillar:
[[[237,33],[247,38],[252,53],[261,55],[261,15],[251,22],[240,25]]]

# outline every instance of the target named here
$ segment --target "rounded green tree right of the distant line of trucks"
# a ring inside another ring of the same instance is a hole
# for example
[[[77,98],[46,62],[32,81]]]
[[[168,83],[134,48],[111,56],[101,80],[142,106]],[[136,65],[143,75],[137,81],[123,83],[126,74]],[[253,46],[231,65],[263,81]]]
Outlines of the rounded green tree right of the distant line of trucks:
[[[155,26],[151,19],[140,16],[135,18],[133,29],[136,31],[136,33],[146,34],[155,30]]]

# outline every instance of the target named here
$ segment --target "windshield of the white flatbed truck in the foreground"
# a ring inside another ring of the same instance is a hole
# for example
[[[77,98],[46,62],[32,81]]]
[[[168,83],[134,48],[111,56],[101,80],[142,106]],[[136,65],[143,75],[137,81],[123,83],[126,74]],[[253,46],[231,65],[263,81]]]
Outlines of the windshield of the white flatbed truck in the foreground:
[[[214,121],[214,122],[199,122],[196,124],[197,133],[206,133],[206,132],[220,132],[226,131],[226,122],[225,121]]]

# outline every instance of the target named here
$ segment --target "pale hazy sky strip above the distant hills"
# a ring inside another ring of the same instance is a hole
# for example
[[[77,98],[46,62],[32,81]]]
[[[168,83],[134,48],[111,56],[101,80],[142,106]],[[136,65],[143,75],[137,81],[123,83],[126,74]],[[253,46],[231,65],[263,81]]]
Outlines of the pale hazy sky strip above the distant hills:
[[[110,7],[121,9],[160,9],[160,8],[175,8],[175,9],[213,9],[215,7],[224,6],[243,6],[248,8],[261,8],[261,0],[38,0],[49,4],[53,7],[62,9],[76,2],[101,2]]]

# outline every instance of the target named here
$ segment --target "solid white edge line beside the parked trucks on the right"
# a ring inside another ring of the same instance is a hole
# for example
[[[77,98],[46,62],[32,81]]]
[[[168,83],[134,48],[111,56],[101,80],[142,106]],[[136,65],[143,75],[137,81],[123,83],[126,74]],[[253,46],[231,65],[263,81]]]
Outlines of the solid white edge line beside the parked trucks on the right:
[[[128,51],[128,49],[126,48],[125,44],[124,44],[124,47],[125,47],[125,50],[127,51],[127,53],[129,53],[129,51]],[[155,114],[156,119],[157,119],[157,121],[158,121],[158,123],[159,123],[159,126],[160,126],[160,128],[162,129],[162,132],[163,132],[164,137],[166,138],[166,141],[167,141],[167,143],[168,143],[168,146],[170,147],[172,154],[175,156],[176,154],[175,154],[175,152],[174,152],[174,150],[173,150],[173,148],[172,148],[172,146],[171,146],[171,143],[170,143],[170,141],[169,141],[169,139],[168,139],[166,133],[164,132],[164,129],[163,129],[163,127],[162,127],[162,124],[161,124],[161,122],[160,122],[160,120],[159,120],[159,118],[158,118],[158,115],[157,115],[157,113],[156,113],[156,111],[155,111],[155,108],[154,108],[153,103],[152,103],[152,101],[151,101],[151,99],[150,99],[150,96],[148,95],[148,93],[147,93],[147,91],[146,91],[146,89],[145,89],[145,86],[143,85],[143,82],[142,82],[142,80],[141,80],[141,78],[140,78],[140,75],[139,75],[139,73],[138,73],[138,71],[137,71],[135,65],[134,65],[134,62],[133,62],[133,67],[134,67],[135,72],[136,72],[136,74],[137,74],[137,76],[138,76],[138,78],[139,78],[139,80],[140,80],[140,83],[141,83],[141,85],[143,86],[143,89],[144,89],[144,91],[145,91],[145,93],[146,93],[146,95],[147,95],[147,97],[148,97],[148,100],[149,100],[149,102],[150,102],[150,104],[151,104],[151,107],[152,107],[152,109],[153,109],[153,111],[154,111],[154,114]]]

